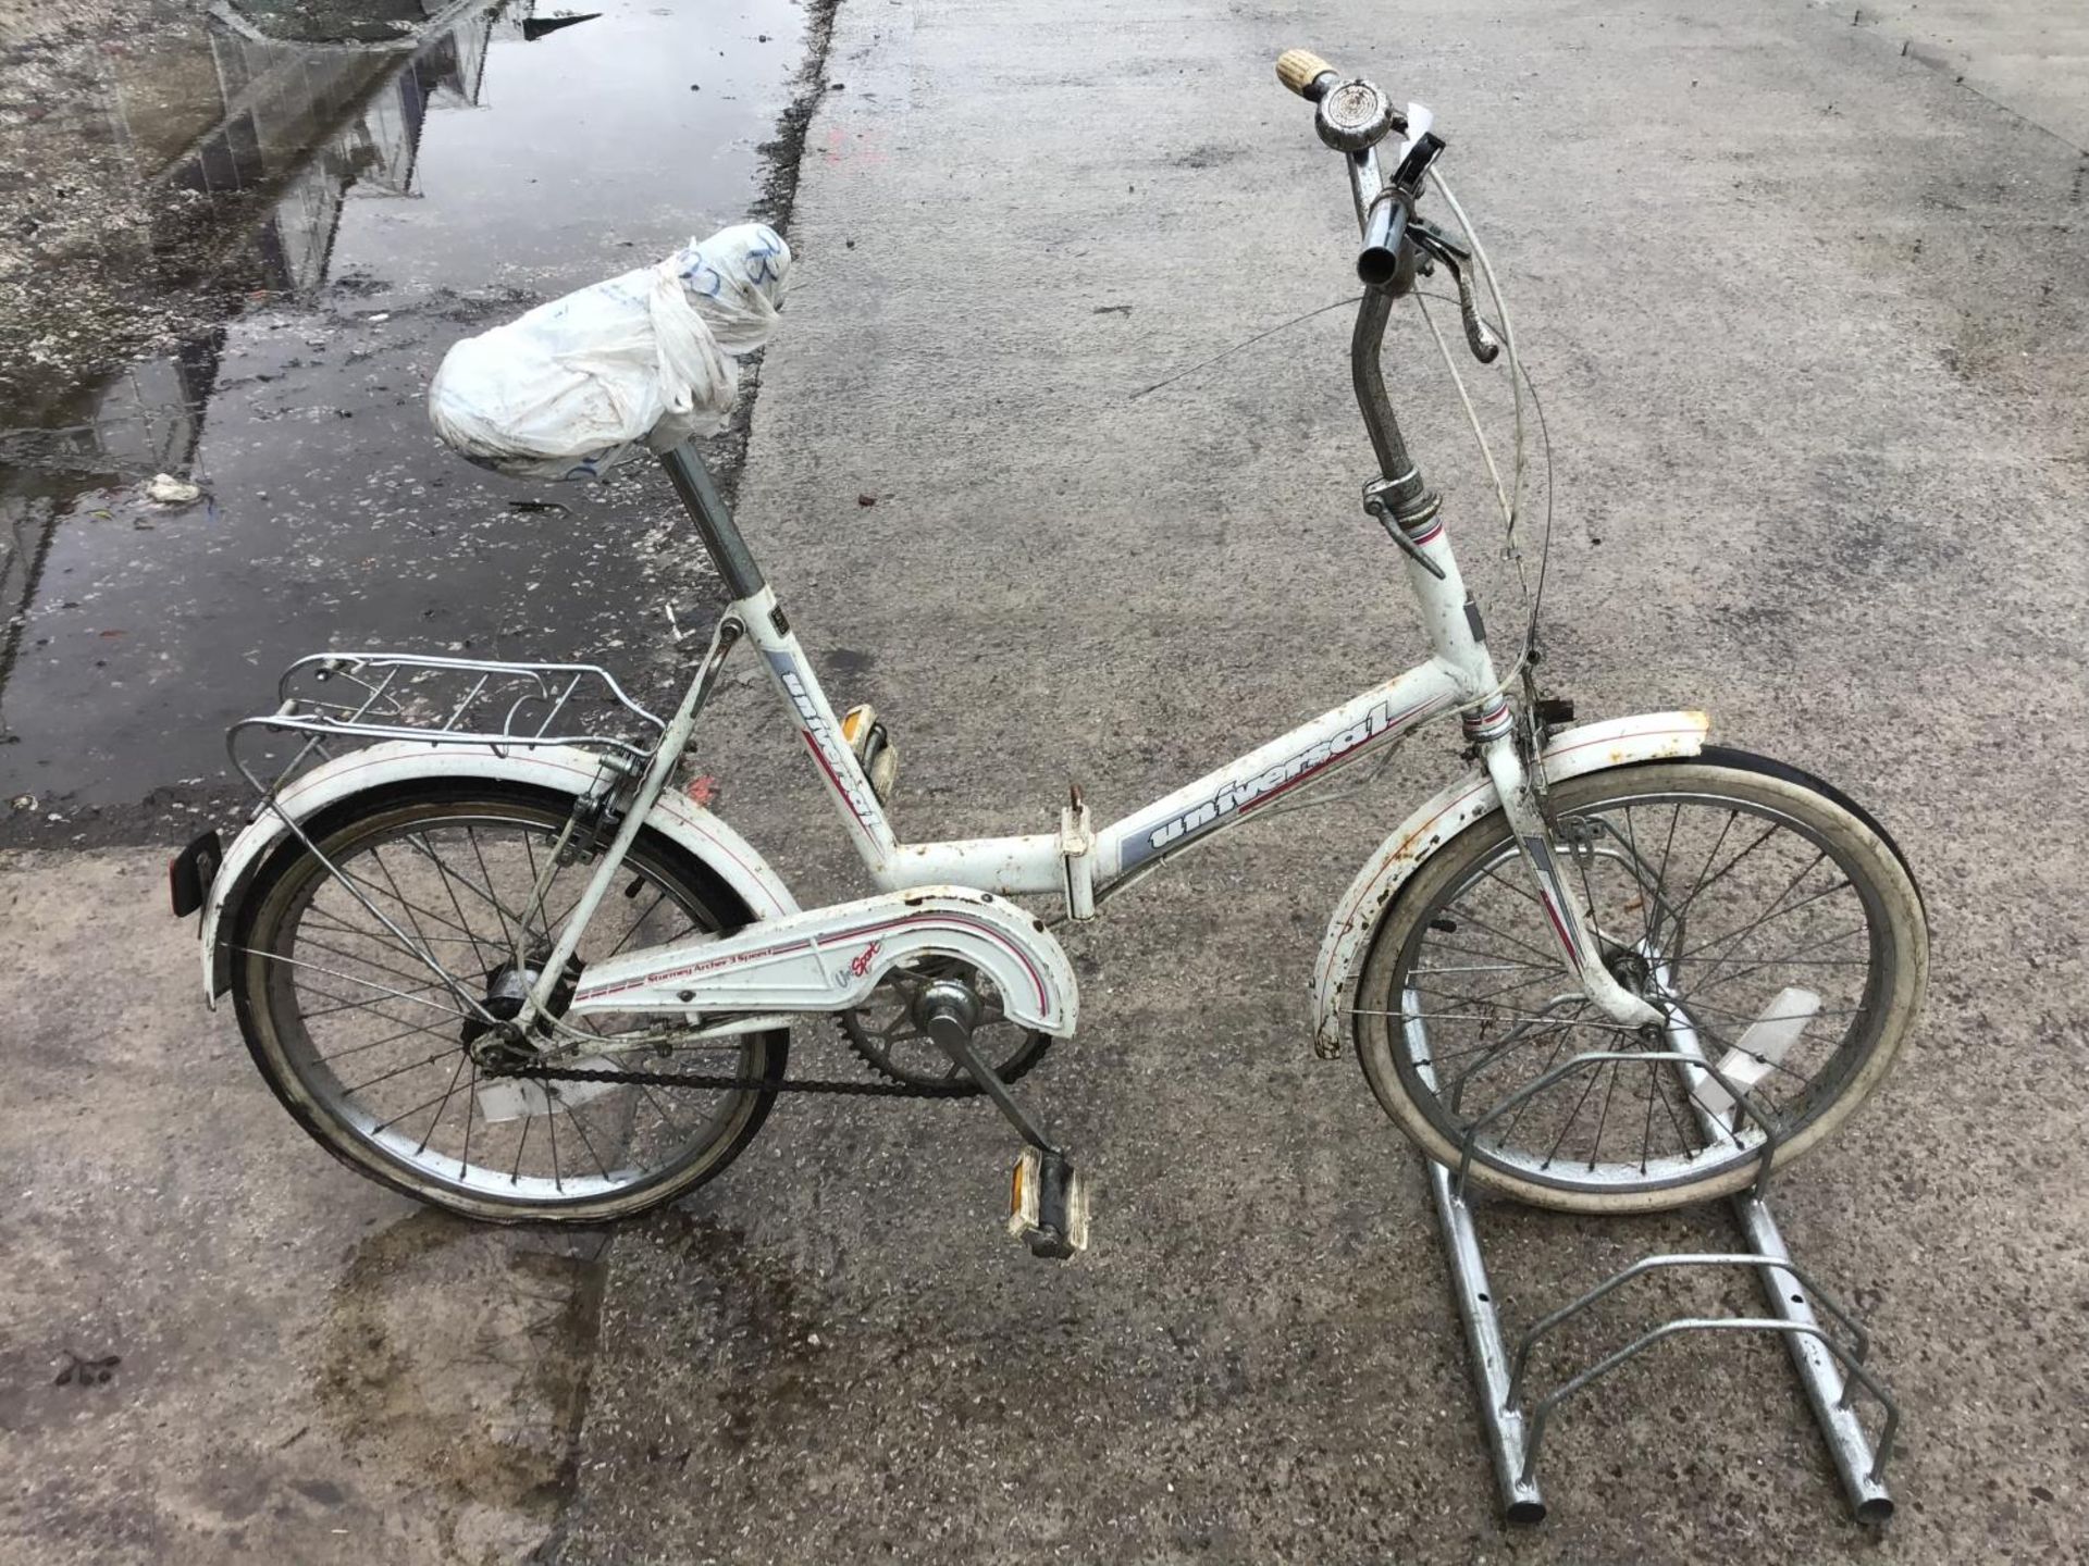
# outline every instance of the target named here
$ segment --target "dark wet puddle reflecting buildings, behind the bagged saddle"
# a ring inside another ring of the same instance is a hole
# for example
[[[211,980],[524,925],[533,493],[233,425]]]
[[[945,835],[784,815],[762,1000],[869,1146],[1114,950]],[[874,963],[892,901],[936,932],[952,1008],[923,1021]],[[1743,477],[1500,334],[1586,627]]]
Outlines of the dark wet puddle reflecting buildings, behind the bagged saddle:
[[[0,407],[0,802],[217,785],[226,725],[326,645],[600,658],[646,685],[660,603],[689,595],[668,516],[635,476],[468,468],[426,428],[426,378],[457,336],[744,217],[804,15],[424,10],[215,6],[73,84],[63,123],[136,182],[140,301],[207,276],[234,303],[180,351]],[[146,501],[159,472],[205,499]],[[510,507],[547,495],[568,509]]]

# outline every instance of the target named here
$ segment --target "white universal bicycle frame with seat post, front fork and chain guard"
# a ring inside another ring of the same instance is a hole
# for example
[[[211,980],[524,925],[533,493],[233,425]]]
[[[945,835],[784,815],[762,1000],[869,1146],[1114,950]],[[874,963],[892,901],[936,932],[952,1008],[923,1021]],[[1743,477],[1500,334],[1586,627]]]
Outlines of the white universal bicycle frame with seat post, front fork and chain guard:
[[[894,940],[902,940],[907,950],[957,950],[976,956],[976,950],[946,948],[923,933],[921,925],[930,915],[942,921],[965,917],[973,921],[978,935],[978,921],[994,896],[1057,894],[1063,896],[1070,917],[1088,919],[1099,902],[1187,848],[1251,818],[1255,810],[1293,789],[1322,781],[1337,768],[1395,743],[1429,718],[1462,710],[1464,731],[1479,748],[1487,777],[1515,823],[1517,839],[1535,875],[1565,971],[1613,1019],[1627,1025],[1659,1021],[1646,1002],[1629,996],[1602,967],[1573,900],[1563,892],[1550,835],[1525,779],[1515,716],[1500,691],[1479,612],[1466,595],[1446,528],[1433,516],[1414,526],[1406,539],[1408,587],[1421,603],[1433,654],[1427,662],[1105,827],[1093,827],[1086,806],[1076,802],[1061,812],[1057,833],[902,844],[854,750],[842,739],[819,677],[775,593],[760,580],[702,459],[694,449],[679,447],[666,453],[664,461],[727,583],[744,591],[721,618],[710,651],[629,804],[620,833],[595,867],[587,892],[560,931],[558,946],[539,971],[531,1013],[549,998],[549,975],[558,975],[577,950],[581,931],[608,894],[637,827],[666,787],[727,651],[746,639],[760,656],[771,685],[811,752],[871,881],[886,894],[936,889],[940,898],[934,906],[921,900],[902,900],[894,906],[890,898],[873,898],[808,910],[792,917],[790,929],[758,927],[725,944],[704,940],[637,950],[587,969],[568,1015],[717,1017],[721,1009],[733,1004],[758,1004],[765,1013],[758,1021],[769,1025],[773,1017],[767,1013],[783,1009],[846,1011],[861,1004],[869,988],[907,954],[892,944]],[[980,894],[982,900],[961,898],[957,906],[950,896],[957,892]],[[999,921],[999,915],[990,919],[996,925]],[[992,931],[990,940],[1017,958],[1007,973],[994,977],[1009,998],[1011,1017],[1070,1031],[1072,973],[1057,956],[1055,942],[1044,954],[1036,950],[1042,944],[1036,938],[1044,927],[1040,921],[1032,923],[1034,931],[1028,935],[1013,927]],[[834,954],[844,954],[850,971],[838,973]],[[1044,983],[1034,973],[1038,967],[1061,969],[1061,983]],[[1034,1009],[1024,1004],[1030,983],[1038,992]],[[1063,990],[1059,1004],[1053,1004],[1053,988]],[[520,1023],[526,1025],[529,1017]],[[756,1021],[742,1025],[752,1027]]]

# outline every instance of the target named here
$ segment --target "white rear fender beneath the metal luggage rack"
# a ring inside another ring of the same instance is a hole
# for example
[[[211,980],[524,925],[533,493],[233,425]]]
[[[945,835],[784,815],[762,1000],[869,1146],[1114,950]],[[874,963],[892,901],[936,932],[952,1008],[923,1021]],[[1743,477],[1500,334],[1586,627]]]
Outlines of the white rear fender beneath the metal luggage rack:
[[[497,754],[476,745],[428,745],[418,739],[397,739],[351,752],[303,773],[276,796],[276,808],[263,806],[247,829],[232,839],[224,864],[211,879],[203,904],[203,992],[209,1004],[232,983],[230,927],[226,915],[238,910],[261,862],[290,835],[290,821],[309,821],[318,812],[370,789],[397,787],[428,777],[476,777],[499,783],[529,783],[554,793],[579,798],[600,775],[600,760],[585,750],[547,745],[543,750],[508,750]],[[756,919],[779,919],[798,912],[783,879],[748,846],[746,837],[719,816],[681,793],[668,791],[646,818],[679,848],[700,858],[725,881]]]

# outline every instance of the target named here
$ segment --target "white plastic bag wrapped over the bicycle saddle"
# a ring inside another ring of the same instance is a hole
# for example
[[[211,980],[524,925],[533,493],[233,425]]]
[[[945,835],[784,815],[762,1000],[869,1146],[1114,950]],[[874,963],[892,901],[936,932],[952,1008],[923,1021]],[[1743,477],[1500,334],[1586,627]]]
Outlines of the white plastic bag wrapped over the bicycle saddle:
[[[740,223],[464,338],[428,384],[435,432],[514,478],[597,478],[641,443],[725,424],[735,353],[775,330],[790,246]]]

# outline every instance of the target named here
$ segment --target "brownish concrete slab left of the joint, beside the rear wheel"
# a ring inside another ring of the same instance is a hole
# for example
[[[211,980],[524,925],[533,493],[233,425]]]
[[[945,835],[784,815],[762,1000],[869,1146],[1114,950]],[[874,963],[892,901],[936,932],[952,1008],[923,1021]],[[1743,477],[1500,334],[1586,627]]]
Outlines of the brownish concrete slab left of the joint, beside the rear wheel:
[[[0,1560],[520,1560],[570,1480],[606,1236],[332,1169],[203,1013],[159,885],[152,854],[0,873]]]

